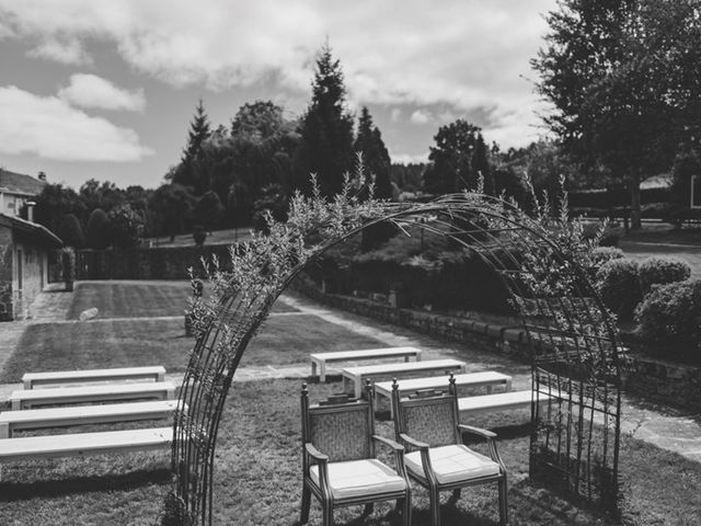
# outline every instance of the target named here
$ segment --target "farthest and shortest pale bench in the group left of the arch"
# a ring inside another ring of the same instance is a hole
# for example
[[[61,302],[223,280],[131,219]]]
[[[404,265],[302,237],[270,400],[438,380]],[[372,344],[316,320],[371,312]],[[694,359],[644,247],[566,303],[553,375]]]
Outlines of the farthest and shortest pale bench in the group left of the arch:
[[[110,380],[148,380],[149,378],[153,378],[154,381],[163,381],[165,379],[165,368],[158,365],[152,367],[123,367],[118,369],[26,373],[22,377],[22,382],[24,384],[24,389],[34,389],[35,386]]]

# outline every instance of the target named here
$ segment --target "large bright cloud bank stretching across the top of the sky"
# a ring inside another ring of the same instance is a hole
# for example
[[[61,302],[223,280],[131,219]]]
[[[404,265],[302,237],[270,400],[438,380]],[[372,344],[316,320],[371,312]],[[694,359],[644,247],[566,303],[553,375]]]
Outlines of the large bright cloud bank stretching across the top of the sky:
[[[422,0],[0,0],[0,35],[39,41],[37,49],[100,39],[172,85],[275,84],[296,93],[289,100],[297,108],[306,105],[315,53],[327,36],[354,107],[436,104],[460,114],[496,106],[495,118],[518,112],[530,125],[537,117],[520,108],[538,100],[522,76],[547,31],[541,14],[555,7],[556,0],[441,0],[439,9]]]

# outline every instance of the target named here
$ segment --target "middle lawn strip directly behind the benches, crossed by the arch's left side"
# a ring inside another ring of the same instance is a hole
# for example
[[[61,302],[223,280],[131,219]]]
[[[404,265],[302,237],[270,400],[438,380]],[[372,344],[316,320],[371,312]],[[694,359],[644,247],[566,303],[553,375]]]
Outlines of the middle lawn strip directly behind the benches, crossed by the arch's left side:
[[[183,320],[136,318],[28,325],[0,375],[0,384],[24,373],[162,365],[184,371],[195,340]],[[309,364],[309,353],[386,346],[311,315],[272,315],[248,346],[241,367]]]

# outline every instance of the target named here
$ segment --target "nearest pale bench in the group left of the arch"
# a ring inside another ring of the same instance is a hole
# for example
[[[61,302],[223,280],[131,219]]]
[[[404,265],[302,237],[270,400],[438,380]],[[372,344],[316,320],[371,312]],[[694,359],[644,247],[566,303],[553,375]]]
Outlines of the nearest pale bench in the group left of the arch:
[[[0,441],[0,464],[49,457],[82,457],[170,447],[173,427],[23,436]]]

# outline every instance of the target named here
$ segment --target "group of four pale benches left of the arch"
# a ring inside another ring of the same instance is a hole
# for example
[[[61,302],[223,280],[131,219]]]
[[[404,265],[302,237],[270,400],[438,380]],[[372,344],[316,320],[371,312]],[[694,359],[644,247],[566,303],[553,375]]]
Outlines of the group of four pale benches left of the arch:
[[[172,418],[177,408],[175,386],[164,381],[164,376],[160,366],[24,375],[24,389],[10,395],[12,410],[0,413],[0,464],[170,447],[171,426],[13,437],[16,431],[25,430]],[[60,387],[46,388],[51,385]],[[43,388],[35,389],[37,386]],[[104,403],[116,401],[126,402]]]

